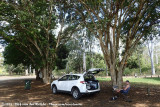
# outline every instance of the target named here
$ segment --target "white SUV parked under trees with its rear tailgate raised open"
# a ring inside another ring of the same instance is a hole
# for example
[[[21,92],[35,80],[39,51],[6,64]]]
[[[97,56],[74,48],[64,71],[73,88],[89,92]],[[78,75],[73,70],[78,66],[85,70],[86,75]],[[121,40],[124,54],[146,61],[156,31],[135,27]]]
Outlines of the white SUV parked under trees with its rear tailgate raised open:
[[[60,79],[51,83],[53,94],[57,92],[68,92],[73,98],[79,99],[82,94],[95,93],[100,91],[98,80],[94,74],[104,71],[101,68],[93,68],[83,74],[66,74]]]

